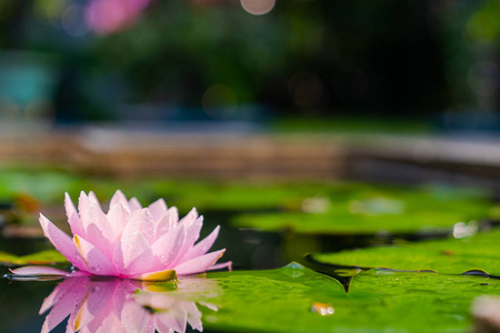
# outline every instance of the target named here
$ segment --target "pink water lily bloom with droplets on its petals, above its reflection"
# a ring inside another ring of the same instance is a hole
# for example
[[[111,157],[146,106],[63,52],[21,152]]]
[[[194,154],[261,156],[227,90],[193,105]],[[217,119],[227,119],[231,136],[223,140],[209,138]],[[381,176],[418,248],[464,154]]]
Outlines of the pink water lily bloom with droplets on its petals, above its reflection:
[[[142,208],[136,198],[128,200],[121,191],[111,199],[106,214],[93,194],[81,192],[78,211],[70,196],[64,199],[72,238],[40,214],[44,235],[73,266],[77,274],[119,276],[161,281],[177,275],[230,268],[231,262],[216,264],[224,250],[207,253],[219,234],[194,244],[203,218],[192,209],[179,221],[177,208],[168,208],[160,199]],[[21,275],[68,275],[43,266],[26,266],[12,271]],[[74,273],[72,273],[74,275]]]

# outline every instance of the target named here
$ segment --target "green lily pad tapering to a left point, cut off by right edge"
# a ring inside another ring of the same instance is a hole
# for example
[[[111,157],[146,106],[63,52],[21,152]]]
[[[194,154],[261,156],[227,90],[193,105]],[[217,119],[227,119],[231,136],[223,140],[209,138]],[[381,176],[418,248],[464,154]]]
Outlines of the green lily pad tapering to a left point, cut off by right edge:
[[[447,239],[394,246],[350,250],[314,255],[314,260],[339,265],[389,268],[392,270],[433,270],[460,274],[483,270],[500,275],[500,231],[463,239]]]

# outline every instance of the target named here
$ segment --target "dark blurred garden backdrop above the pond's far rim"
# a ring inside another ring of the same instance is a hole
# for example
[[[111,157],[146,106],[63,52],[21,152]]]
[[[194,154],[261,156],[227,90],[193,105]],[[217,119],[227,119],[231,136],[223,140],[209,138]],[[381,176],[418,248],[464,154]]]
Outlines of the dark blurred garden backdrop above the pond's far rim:
[[[2,122],[470,117],[497,129],[496,1],[0,6]]]

